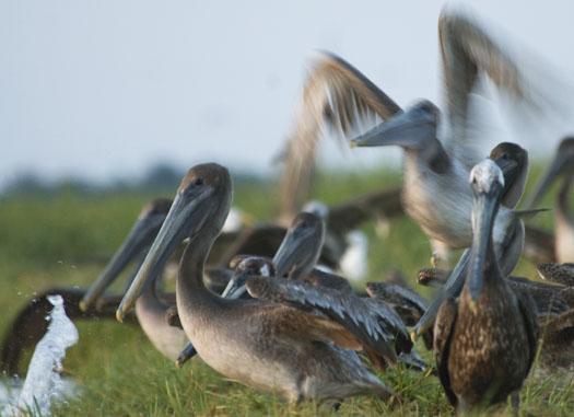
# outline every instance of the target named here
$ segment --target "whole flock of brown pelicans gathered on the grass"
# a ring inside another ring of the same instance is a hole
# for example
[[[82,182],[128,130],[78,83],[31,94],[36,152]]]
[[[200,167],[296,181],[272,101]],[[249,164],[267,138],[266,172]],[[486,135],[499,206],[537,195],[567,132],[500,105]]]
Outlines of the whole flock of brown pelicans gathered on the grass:
[[[567,368],[574,358],[574,264],[569,264],[574,263],[574,213],[567,207],[574,138],[562,140],[526,209],[517,209],[527,151],[504,142],[488,159],[477,157],[467,138],[469,100],[483,74],[528,104],[526,78],[469,18],[445,11],[438,33],[444,111],[429,101],[401,109],[343,59],[321,56],[284,151],[284,201],[277,224],[222,233],[232,202],[230,174],[215,163],[196,165],[173,200],[156,199],[143,208],[87,291],[47,292],[61,293],[75,318],[113,316],[117,309],[117,320],[132,321],[134,308],[153,346],[179,366],[197,352],[226,378],[289,402],[339,403],[358,394],[391,401],[398,395],[373,368],[427,369],[413,348],[412,340],[421,337],[457,410],[508,396],[517,409],[540,345],[543,367]],[[353,137],[365,119],[382,120]],[[324,126],[354,147],[402,148],[400,195],[385,190],[302,210]],[[559,178],[553,235],[525,227]],[[365,293],[332,271],[350,230],[402,210],[429,236],[435,262],[447,264],[452,250],[465,250],[453,270],[421,269],[419,283],[437,288],[430,303],[400,279],[368,283]],[[512,276],[523,255],[544,260],[538,271],[547,281]],[[126,294],[105,293],[132,262],[138,267]],[[161,289],[174,262],[175,294]],[[38,313],[46,309],[43,303],[35,298],[14,321],[2,351],[8,372],[17,371],[21,350],[45,328]]]

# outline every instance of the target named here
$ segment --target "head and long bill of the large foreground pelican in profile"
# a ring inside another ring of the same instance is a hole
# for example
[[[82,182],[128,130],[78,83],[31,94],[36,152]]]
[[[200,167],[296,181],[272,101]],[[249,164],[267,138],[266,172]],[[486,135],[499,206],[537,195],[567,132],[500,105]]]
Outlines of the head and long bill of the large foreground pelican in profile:
[[[188,171],[157,238],[116,311],[118,321],[133,308],[148,278],[163,270],[181,241],[189,239],[189,244],[196,244],[201,238],[214,238],[221,231],[230,211],[231,194],[230,173],[225,167],[208,163]],[[209,251],[204,245],[198,246]]]

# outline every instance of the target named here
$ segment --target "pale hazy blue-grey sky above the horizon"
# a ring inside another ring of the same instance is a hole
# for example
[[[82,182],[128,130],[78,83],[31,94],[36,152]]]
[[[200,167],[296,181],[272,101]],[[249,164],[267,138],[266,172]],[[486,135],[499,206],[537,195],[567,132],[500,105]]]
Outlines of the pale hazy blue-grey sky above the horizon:
[[[268,169],[316,49],[343,56],[401,105],[437,100],[444,3],[3,0],[0,184],[24,171],[136,176],[157,160]],[[574,73],[572,1],[466,3]],[[324,160],[341,160],[326,148]],[[368,153],[387,152],[345,159]]]

